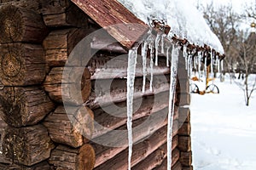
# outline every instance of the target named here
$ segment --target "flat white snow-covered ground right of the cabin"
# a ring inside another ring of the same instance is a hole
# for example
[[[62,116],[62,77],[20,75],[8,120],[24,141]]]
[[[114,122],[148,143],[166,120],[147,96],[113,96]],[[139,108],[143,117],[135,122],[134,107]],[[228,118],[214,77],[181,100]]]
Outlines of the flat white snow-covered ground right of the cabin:
[[[191,126],[195,170],[256,169],[256,92],[246,106],[230,78],[215,81],[220,94],[192,94]]]

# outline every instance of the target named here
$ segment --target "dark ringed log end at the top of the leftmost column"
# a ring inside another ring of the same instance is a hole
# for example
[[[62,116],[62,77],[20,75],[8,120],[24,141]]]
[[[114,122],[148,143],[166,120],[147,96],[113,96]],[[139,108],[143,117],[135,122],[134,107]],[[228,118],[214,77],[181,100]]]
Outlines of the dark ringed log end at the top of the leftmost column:
[[[40,14],[13,5],[0,9],[0,42],[40,43],[48,34]]]

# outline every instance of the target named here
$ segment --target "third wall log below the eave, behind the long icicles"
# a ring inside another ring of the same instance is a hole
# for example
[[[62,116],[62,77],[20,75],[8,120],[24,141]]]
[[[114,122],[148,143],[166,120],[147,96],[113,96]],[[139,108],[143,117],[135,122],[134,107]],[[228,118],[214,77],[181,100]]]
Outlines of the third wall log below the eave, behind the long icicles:
[[[143,78],[137,77],[134,83],[134,99],[152,94],[160,94],[169,90],[168,76],[154,76],[153,91],[149,89],[149,82],[146,82],[145,92],[143,93]],[[110,105],[111,103],[126,100],[126,79],[107,79],[92,82],[92,93],[86,105],[91,109],[99,106]]]

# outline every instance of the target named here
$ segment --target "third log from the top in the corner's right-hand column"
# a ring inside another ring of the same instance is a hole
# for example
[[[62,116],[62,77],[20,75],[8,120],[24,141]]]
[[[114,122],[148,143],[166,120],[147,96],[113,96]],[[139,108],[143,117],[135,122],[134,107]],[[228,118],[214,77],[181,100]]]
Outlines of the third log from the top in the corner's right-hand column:
[[[63,71],[67,71],[69,75],[63,77]],[[79,74],[82,77],[78,77]],[[81,105],[90,96],[90,72],[84,67],[55,67],[46,77],[44,88],[49,93],[50,99],[58,103],[62,103],[65,99],[67,103]],[[82,101],[79,101],[80,96]]]

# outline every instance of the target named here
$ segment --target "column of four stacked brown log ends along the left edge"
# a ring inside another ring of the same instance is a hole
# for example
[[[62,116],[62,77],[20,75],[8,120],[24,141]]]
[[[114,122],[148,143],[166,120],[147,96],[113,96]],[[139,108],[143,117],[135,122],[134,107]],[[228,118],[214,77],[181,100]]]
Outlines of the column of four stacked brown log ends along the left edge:
[[[55,107],[41,87],[41,43],[48,28],[38,12],[5,3],[0,8],[0,167],[50,169],[47,160],[55,145],[41,124]]]

